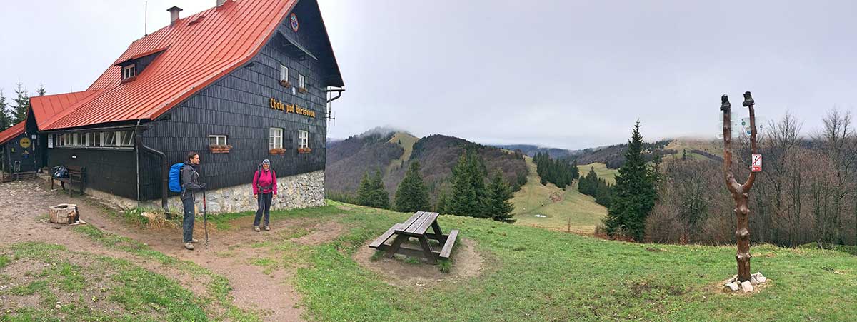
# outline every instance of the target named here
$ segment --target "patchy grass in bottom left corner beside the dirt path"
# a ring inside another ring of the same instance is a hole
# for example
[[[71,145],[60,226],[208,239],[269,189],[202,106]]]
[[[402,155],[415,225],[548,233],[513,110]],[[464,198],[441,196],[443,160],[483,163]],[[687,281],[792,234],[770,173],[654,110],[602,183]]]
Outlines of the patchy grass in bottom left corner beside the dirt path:
[[[21,284],[9,289],[9,295],[39,296],[36,307],[0,304],[4,308],[0,312],[3,314],[0,320],[59,320],[57,310],[69,320],[207,319],[203,301],[188,289],[127,260],[70,252],[64,247],[42,242],[17,243],[0,250],[12,253],[15,261],[26,261],[30,271],[25,276],[33,277],[29,283],[13,281]],[[73,264],[73,259],[85,264]],[[109,286],[101,286],[105,284]],[[61,298],[65,300],[57,309],[54,306],[60,303]],[[102,298],[122,307],[122,310],[101,312],[93,309],[91,303]]]

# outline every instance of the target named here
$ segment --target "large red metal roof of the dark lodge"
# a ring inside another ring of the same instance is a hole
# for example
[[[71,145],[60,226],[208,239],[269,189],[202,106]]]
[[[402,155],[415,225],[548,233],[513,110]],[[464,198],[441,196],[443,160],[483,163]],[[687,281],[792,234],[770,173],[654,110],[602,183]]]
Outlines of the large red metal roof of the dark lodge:
[[[40,130],[103,122],[154,119],[185,98],[247,63],[276,31],[297,0],[226,2],[137,39],[87,92],[97,92],[48,120]],[[199,19],[204,15],[205,19]],[[195,21],[195,23],[189,23]],[[167,48],[137,75],[121,82],[121,67],[132,57]],[[35,104],[33,104],[35,108]],[[44,118],[44,116],[42,116]]]

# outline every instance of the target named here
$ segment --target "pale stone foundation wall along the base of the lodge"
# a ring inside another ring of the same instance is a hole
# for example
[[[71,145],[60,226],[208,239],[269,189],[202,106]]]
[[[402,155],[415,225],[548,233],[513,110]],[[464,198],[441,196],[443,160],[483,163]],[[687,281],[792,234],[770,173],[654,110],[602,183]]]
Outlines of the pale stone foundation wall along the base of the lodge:
[[[324,171],[277,178],[277,190],[279,194],[271,204],[272,210],[324,206]],[[114,208],[132,209],[138,206],[136,200],[94,189],[85,189],[85,192],[94,199]],[[202,194],[196,195],[195,204],[196,211],[202,212]],[[206,191],[207,212],[211,214],[255,212],[257,205],[253,198],[253,186],[250,183]],[[160,208],[160,200],[141,201],[139,206]],[[178,196],[168,199],[167,206],[170,207],[171,212],[175,213],[181,213],[183,209],[182,200]]]

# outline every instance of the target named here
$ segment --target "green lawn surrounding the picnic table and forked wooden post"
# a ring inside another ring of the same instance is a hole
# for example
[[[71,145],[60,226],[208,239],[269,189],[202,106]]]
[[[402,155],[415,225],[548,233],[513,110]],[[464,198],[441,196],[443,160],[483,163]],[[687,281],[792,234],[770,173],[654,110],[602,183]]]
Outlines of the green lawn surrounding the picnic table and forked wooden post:
[[[336,219],[351,230],[311,247],[309,265],[297,271],[314,319],[768,321],[857,314],[857,257],[847,253],[752,247],[753,271],[771,282],[757,294],[732,295],[718,285],[734,274],[734,247],[613,242],[450,216],[440,217],[441,227],[476,241],[487,259],[482,275],[420,291],[390,286],[351,254],[407,217],[356,208]]]

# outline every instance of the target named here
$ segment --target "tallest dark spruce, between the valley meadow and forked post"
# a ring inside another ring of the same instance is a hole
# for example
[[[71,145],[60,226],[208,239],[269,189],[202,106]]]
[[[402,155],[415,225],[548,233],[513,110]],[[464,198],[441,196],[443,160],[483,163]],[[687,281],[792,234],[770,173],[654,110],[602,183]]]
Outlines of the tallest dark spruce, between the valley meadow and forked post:
[[[639,128],[640,123],[637,121],[625,152],[626,162],[616,176],[613,198],[603,223],[610,236],[621,232],[642,242],[645,219],[655,206],[657,192],[654,171],[643,158],[643,136]]]

